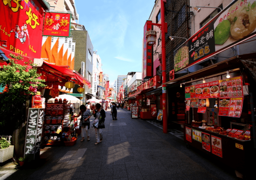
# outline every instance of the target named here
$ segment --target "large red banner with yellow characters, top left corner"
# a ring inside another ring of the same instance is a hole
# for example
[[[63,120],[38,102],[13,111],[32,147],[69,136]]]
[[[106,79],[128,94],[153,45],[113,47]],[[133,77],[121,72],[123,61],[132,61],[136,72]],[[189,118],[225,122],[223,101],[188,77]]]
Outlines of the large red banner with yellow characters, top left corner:
[[[40,58],[43,8],[37,1],[0,1],[1,46],[23,56]],[[7,44],[3,45],[3,41]]]

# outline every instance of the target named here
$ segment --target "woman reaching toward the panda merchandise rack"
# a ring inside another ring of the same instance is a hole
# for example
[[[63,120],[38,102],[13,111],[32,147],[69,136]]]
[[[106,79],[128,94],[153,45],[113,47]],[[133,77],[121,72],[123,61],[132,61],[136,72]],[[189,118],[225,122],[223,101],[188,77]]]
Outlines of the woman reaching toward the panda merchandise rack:
[[[85,107],[84,104],[82,104],[80,107],[80,112],[77,116],[73,116],[74,117],[79,117],[81,115],[81,119],[80,119],[80,123],[79,123],[79,127],[81,127],[81,137],[82,137],[82,140],[81,142],[84,141],[84,135],[85,135],[85,132],[86,132],[86,135],[87,135],[87,141],[90,141],[90,117],[91,117],[91,112],[89,109],[87,109]]]

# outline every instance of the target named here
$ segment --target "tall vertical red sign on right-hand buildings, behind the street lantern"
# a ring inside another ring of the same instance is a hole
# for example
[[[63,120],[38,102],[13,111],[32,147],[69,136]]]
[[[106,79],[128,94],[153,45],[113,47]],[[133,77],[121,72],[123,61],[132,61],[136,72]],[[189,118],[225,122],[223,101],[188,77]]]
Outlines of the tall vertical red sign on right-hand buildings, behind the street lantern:
[[[146,21],[144,26],[142,78],[152,77],[152,45],[147,44],[146,39],[146,33],[152,25],[148,23],[152,21]]]

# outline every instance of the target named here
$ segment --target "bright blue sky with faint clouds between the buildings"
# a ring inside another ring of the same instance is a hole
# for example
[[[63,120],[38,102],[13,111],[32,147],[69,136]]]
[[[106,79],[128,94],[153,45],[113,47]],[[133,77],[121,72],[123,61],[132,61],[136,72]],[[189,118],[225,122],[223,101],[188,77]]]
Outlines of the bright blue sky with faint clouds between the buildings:
[[[141,72],[143,28],[155,0],[75,0],[79,24],[98,50],[110,83],[118,75]]]

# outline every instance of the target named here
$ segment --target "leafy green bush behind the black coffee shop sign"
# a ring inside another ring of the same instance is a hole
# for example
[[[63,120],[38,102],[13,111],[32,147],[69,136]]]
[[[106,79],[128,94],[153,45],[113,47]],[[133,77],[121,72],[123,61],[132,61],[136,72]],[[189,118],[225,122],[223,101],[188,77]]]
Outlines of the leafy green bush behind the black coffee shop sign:
[[[32,68],[32,62],[26,65],[19,64],[21,56],[9,55],[7,65],[0,69],[0,86],[7,87],[4,93],[0,94],[0,132],[11,135],[25,122],[26,100],[30,95],[35,95],[36,90],[45,87],[45,80],[36,68]]]

